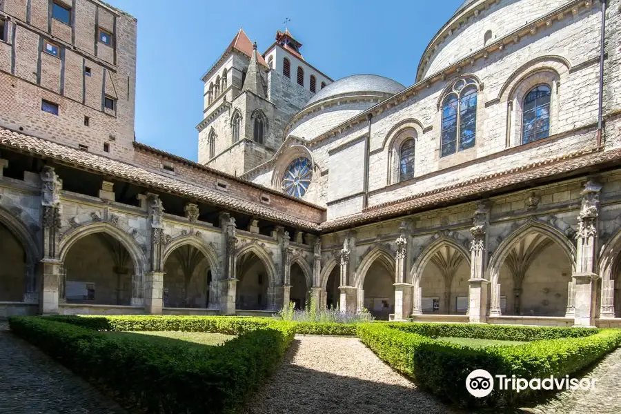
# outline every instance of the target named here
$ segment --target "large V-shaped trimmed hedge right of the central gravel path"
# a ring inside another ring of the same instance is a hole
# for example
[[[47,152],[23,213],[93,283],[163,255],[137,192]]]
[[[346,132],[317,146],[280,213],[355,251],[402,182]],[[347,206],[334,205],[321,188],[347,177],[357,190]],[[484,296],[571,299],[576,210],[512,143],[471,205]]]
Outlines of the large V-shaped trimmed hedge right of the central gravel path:
[[[419,326],[420,324],[411,324]],[[466,332],[446,325],[446,328],[434,326],[433,329],[421,328],[426,333],[433,332],[439,336],[456,336],[455,333]],[[473,326],[477,328],[477,326]],[[479,326],[482,337],[488,331],[492,339],[499,339],[500,332],[495,326]],[[511,327],[513,328],[513,327]],[[523,327],[519,327],[523,328]],[[412,328],[415,331],[416,328]],[[427,329],[427,330],[426,330]],[[524,338],[530,328],[521,331]],[[535,328],[537,329],[537,328]],[[506,404],[517,404],[528,400],[535,391],[499,390],[484,398],[475,398],[466,390],[466,377],[471,371],[481,368],[491,375],[516,375],[516,377],[544,378],[554,375],[564,377],[589,366],[597,359],[621,344],[621,331],[612,329],[589,330],[589,336],[564,337],[561,339],[543,339],[519,346],[490,346],[471,348],[437,341],[407,332],[404,324],[359,324],[357,335],[381,359],[393,368],[412,377],[417,384],[431,391],[443,400],[449,400],[459,406],[496,405],[501,399]],[[509,332],[509,331],[504,331]],[[553,331],[555,332],[555,331]],[[564,331],[567,335],[584,335],[580,329]],[[537,334],[532,334],[534,337]],[[547,334],[542,334],[547,335]],[[561,335],[549,333],[549,335]],[[490,336],[487,336],[490,338]]]

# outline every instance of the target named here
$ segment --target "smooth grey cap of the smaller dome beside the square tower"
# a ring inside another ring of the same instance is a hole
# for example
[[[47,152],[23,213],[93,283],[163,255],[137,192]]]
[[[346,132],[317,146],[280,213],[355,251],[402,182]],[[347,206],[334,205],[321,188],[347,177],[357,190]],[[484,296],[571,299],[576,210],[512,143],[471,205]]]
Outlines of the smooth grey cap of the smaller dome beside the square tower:
[[[395,95],[405,89],[401,83],[379,75],[351,75],[339,79],[319,90],[314,97],[306,102],[304,108],[315,102],[324,101],[337,95],[358,95],[364,92],[380,92]]]

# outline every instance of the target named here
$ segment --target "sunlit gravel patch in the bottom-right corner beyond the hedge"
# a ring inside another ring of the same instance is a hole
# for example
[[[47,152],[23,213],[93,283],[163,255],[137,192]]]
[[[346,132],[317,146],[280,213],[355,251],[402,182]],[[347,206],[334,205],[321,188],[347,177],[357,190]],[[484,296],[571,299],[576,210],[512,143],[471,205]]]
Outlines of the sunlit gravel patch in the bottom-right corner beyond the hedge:
[[[548,396],[545,402],[526,411],[538,414],[621,413],[621,348],[609,353],[594,368],[577,377],[597,378],[595,389],[563,391]]]

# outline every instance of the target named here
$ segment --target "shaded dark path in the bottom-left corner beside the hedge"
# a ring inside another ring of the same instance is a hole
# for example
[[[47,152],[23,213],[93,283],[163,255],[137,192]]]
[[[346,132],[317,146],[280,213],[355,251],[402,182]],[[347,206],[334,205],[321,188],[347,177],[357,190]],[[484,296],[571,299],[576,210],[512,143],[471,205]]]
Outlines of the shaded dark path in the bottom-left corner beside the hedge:
[[[124,414],[95,390],[0,322],[0,414]]]

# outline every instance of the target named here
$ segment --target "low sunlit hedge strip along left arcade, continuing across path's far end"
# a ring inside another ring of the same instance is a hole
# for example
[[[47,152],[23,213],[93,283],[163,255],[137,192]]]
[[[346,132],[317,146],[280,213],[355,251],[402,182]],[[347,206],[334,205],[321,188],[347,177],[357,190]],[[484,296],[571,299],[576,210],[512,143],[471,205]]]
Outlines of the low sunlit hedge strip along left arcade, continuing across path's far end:
[[[48,316],[58,322],[66,322],[97,331],[187,331],[218,332],[237,335],[265,328],[279,322],[270,317],[237,316]],[[302,335],[355,336],[356,324],[319,322],[290,322],[295,332]]]

